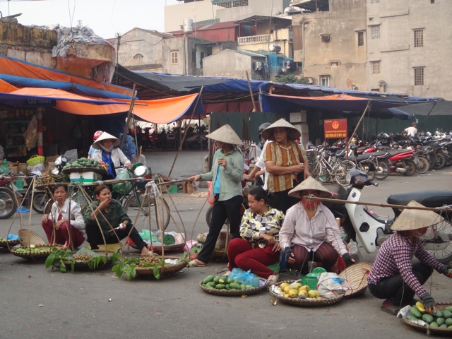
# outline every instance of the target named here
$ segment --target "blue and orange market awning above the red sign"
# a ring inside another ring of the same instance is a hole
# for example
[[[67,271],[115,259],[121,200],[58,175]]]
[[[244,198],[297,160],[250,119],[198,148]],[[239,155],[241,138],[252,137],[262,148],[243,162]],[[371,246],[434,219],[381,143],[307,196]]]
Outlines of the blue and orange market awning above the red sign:
[[[398,112],[398,114],[379,114],[379,109],[398,107],[406,105],[407,102],[398,102],[392,100],[378,100],[363,97],[353,97],[346,94],[326,95],[321,97],[295,97],[289,95],[275,95],[261,92],[261,107],[263,112],[297,112],[301,107],[323,109],[329,111],[339,111],[345,115],[359,115],[364,112],[369,100],[371,101],[371,110],[369,117],[388,119],[397,117],[398,119],[412,119],[411,114]]]

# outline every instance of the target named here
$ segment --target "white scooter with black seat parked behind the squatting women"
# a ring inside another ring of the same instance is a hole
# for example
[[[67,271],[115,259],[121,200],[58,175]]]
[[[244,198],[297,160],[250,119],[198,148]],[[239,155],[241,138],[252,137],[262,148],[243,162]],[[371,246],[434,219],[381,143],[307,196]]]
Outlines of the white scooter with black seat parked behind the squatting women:
[[[346,242],[353,240],[357,242],[367,253],[374,253],[377,246],[381,246],[388,237],[393,234],[391,225],[394,219],[376,215],[370,208],[356,204],[361,197],[364,186],[378,186],[371,182],[367,175],[358,169],[351,169],[347,173],[347,182],[350,186],[344,189],[338,187],[333,193],[337,198],[350,201],[350,203],[330,203],[325,205],[330,208],[336,218],[340,218],[340,225],[346,234]],[[394,205],[408,205],[410,201],[417,201],[426,207],[452,206],[452,191],[418,191],[406,194],[393,194],[387,201]],[[400,211],[396,209],[395,215]],[[444,216],[444,222],[430,227],[424,237],[422,244],[436,260],[441,263],[452,261],[452,223],[448,215]]]

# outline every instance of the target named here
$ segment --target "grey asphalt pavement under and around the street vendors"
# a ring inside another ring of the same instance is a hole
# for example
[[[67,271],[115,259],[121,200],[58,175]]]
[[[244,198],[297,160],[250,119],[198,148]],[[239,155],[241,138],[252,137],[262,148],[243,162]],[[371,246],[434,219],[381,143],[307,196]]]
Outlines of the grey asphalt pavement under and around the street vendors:
[[[153,173],[167,175],[175,152],[145,152]],[[206,152],[179,154],[171,177],[198,174]],[[451,168],[403,177],[391,174],[378,187],[363,189],[362,200],[385,203],[393,193],[424,189],[451,190]],[[206,191],[201,185],[196,193]],[[167,196],[174,222],[168,230],[196,239],[207,232],[206,198],[177,193]],[[392,215],[389,208],[374,208]],[[177,212],[181,218],[177,216]],[[41,215],[27,213],[20,218],[0,220],[0,237],[30,228],[45,239]],[[182,219],[182,221],[181,221]],[[197,221],[196,221],[197,220]],[[183,224],[182,224],[183,222]],[[361,250],[362,251],[362,250]],[[125,255],[137,251],[126,249]],[[182,254],[178,254],[179,256]],[[375,253],[362,253],[372,262]],[[9,252],[0,253],[1,316],[0,338],[424,338],[379,310],[381,300],[367,291],[325,307],[295,307],[278,302],[268,292],[247,297],[208,295],[199,287],[207,275],[227,270],[225,262],[212,261],[203,268],[184,268],[168,278],[118,279],[109,268],[60,273],[44,263],[25,261]],[[284,273],[281,279],[295,279]],[[424,285],[437,301],[452,301],[451,283],[434,273]]]

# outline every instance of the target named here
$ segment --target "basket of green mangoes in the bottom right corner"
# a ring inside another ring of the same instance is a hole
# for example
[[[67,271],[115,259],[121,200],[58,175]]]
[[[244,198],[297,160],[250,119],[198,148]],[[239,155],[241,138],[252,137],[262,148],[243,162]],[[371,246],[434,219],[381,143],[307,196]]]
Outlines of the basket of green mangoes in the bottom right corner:
[[[406,311],[406,312],[403,312]],[[444,335],[452,335],[452,303],[438,302],[436,312],[428,314],[422,302],[402,309],[402,322],[419,331]]]

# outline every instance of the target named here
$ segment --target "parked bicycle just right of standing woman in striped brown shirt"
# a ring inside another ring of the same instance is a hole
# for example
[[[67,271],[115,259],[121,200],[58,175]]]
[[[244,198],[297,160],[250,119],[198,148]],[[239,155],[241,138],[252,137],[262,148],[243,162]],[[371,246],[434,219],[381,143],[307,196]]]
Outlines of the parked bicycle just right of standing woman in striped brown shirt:
[[[343,152],[331,153],[321,150],[314,161],[309,163],[309,172],[312,177],[322,183],[335,181],[340,186],[347,186],[345,176],[350,169],[355,168],[355,163],[350,160],[342,160],[342,155]]]

